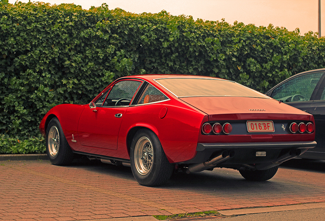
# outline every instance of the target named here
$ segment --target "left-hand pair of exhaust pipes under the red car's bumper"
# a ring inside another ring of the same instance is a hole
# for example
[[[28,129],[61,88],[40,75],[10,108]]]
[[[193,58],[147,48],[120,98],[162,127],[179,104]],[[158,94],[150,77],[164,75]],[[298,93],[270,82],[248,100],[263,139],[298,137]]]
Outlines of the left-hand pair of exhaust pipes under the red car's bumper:
[[[189,168],[187,169],[186,173],[189,174],[192,172],[201,172],[203,170],[215,167],[217,164],[224,162],[230,158],[233,158],[234,156],[235,156],[235,151],[230,151],[228,153],[227,150],[224,150],[224,151],[222,151],[222,153],[220,155],[211,159],[210,161],[190,165]]]

